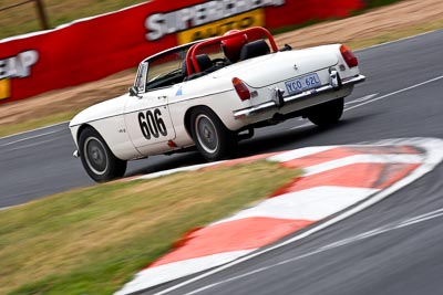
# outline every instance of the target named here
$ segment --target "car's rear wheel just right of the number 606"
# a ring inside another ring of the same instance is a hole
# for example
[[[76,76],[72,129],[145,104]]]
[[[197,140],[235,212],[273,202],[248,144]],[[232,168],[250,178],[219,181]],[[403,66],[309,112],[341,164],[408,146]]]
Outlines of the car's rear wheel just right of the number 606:
[[[237,146],[235,134],[207,107],[193,109],[190,134],[198,151],[208,161],[229,157]]]

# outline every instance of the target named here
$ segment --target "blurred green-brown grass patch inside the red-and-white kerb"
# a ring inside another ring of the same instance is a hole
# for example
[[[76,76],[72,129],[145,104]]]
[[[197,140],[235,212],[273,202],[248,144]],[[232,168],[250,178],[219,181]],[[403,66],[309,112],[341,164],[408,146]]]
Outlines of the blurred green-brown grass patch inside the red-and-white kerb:
[[[99,185],[0,211],[0,294],[112,294],[188,230],[297,175],[257,161]]]

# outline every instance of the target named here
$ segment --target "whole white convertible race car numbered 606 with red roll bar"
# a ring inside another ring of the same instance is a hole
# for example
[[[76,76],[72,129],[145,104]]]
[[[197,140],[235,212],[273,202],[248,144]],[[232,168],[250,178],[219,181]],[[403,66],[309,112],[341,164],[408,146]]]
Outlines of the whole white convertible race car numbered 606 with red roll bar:
[[[74,156],[95,181],[122,177],[127,160],[194,146],[223,159],[257,127],[297,116],[338,122],[363,81],[346,45],[279,50],[264,28],[229,31],[142,61],[127,94],[71,120]]]

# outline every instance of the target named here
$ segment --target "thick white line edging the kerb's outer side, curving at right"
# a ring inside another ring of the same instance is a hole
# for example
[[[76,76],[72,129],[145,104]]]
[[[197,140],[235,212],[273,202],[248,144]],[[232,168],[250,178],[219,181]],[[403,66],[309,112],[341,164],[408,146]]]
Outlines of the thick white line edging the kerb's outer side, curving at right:
[[[403,139],[403,140],[394,139],[393,141],[395,144],[402,144],[402,145],[406,145],[406,146],[411,145],[411,143],[408,140],[408,138]],[[338,222],[340,222],[340,221],[342,221],[342,220],[344,220],[344,219],[347,219],[347,218],[349,218],[349,217],[351,217],[351,215],[353,215],[353,214],[356,214],[356,213],[358,213],[358,212],[360,212],[360,211],[362,211],[362,210],[375,204],[377,202],[383,200],[384,198],[389,197],[390,194],[394,193],[395,191],[404,188],[409,183],[411,183],[411,182],[415,181],[416,179],[423,177],[427,172],[432,171],[432,169],[443,160],[443,152],[442,152],[443,151],[443,140],[439,139],[439,138],[422,138],[421,140],[419,138],[414,138],[413,141],[414,141],[414,144],[416,146],[420,146],[420,147],[422,147],[423,149],[426,150],[427,157],[426,157],[424,164],[421,167],[416,168],[409,176],[406,176],[405,178],[403,178],[400,181],[395,182],[391,187],[380,191],[379,193],[374,194],[372,198],[368,199],[367,201],[363,201],[363,202],[359,203],[354,208],[352,208],[352,209],[350,209],[350,210],[348,210],[348,211],[346,211],[346,212],[343,212],[343,213],[341,213],[341,214],[339,214],[339,215],[337,215],[334,218],[331,218],[330,220],[328,220],[328,221],[326,221],[323,223],[320,223],[319,225],[313,226],[312,229],[307,230],[306,232],[297,234],[296,236],[293,236],[293,238],[291,238],[289,240],[286,240],[286,241],[281,242],[281,243],[278,243],[278,244],[276,244],[274,246],[270,246],[270,247],[267,247],[265,250],[251,253],[250,255],[246,255],[244,257],[240,257],[240,259],[238,259],[236,261],[233,261],[230,263],[227,263],[227,264],[225,264],[225,265],[223,265],[220,267],[214,268],[213,271],[209,271],[209,272],[206,272],[204,274],[197,275],[197,276],[195,276],[195,277],[193,277],[190,280],[184,281],[184,282],[182,282],[179,284],[176,284],[175,286],[172,286],[172,287],[166,288],[166,289],[164,289],[162,292],[158,292],[158,293],[156,293],[156,295],[163,295],[163,294],[167,294],[167,293],[169,293],[172,291],[176,291],[176,289],[178,289],[178,288],[181,288],[183,286],[186,286],[188,284],[192,284],[192,283],[194,283],[196,281],[199,281],[202,278],[208,277],[208,276],[210,276],[213,274],[216,274],[216,273],[219,273],[219,272],[222,272],[224,270],[233,267],[234,265],[240,264],[240,263],[243,263],[245,261],[248,261],[248,260],[251,260],[251,259],[257,257],[259,255],[262,255],[265,253],[271,252],[271,251],[274,251],[276,249],[280,249],[280,247],[282,247],[282,246],[287,245],[287,244],[290,244],[290,243],[293,243],[296,241],[302,240],[302,239],[305,239],[305,238],[307,238],[307,236],[309,236],[309,235],[311,235],[311,234],[313,234],[316,232],[319,232],[319,231],[321,231],[321,230],[323,230],[326,228],[329,228],[332,224],[336,224],[336,223],[338,223]],[[388,144],[388,145],[390,144],[389,140],[384,140],[384,143]]]

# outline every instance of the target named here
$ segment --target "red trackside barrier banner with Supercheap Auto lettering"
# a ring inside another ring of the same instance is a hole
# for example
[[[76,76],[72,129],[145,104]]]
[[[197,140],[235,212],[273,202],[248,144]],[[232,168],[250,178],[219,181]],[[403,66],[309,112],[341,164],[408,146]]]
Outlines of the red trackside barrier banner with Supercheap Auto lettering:
[[[341,18],[362,6],[361,0],[154,0],[4,39],[0,104],[96,81],[167,48],[231,29]]]

